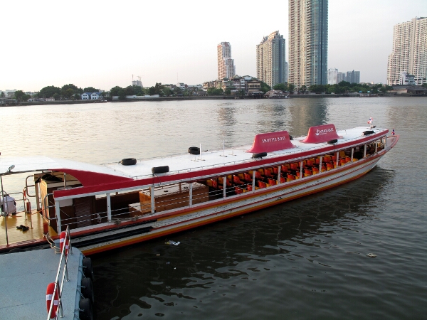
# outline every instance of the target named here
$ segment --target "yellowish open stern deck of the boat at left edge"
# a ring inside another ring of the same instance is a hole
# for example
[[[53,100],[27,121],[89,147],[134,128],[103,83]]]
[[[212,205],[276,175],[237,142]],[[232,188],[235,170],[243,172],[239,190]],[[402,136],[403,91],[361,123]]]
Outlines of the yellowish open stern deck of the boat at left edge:
[[[19,245],[19,242],[43,239],[43,217],[36,210],[33,210],[31,215],[21,212],[17,215],[9,215],[6,218],[0,217],[0,219],[0,245],[6,245],[5,219],[7,220],[9,245]],[[19,225],[26,225],[30,229],[27,231],[16,229]],[[53,237],[54,235],[57,235],[57,233],[53,228],[49,227],[49,235]]]

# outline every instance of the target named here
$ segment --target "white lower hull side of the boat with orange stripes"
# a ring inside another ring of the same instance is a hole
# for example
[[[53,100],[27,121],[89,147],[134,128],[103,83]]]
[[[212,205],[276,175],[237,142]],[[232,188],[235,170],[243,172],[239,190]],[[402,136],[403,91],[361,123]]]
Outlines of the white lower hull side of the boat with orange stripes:
[[[364,174],[367,174],[376,166],[384,153],[377,154],[369,159],[354,162],[348,166],[343,166],[334,171],[326,171],[310,178],[295,180],[292,183],[282,183],[258,190],[254,193],[246,193],[245,196],[233,196],[209,203],[209,205],[194,206],[194,208],[175,212],[172,217],[164,220],[147,222],[134,227],[137,231],[135,235],[122,236],[114,240],[108,240],[109,235],[90,235],[76,239],[73,243],[85,254],[93,255],[98,252],[113,250],[126,245],[152,240],[154,238],[165,237],[173,233],[197,228],[202,225],[214,223],[238,215],[251,213],[256,210],[285,203],[296,198],[308,196],[312,193],[325,191],[329,188],[339,186],[352,181]],[[167,215],[167,214],[165,214]],[[160,217],[162,218],[162,217]],[[125,232],[125,230],[124,230]],[[117,237],[117,233],[115,233]],[[92,240],[98,242],[92,245],[85,245],[85,241]],[[81,246],[80,246],[81,245]]]

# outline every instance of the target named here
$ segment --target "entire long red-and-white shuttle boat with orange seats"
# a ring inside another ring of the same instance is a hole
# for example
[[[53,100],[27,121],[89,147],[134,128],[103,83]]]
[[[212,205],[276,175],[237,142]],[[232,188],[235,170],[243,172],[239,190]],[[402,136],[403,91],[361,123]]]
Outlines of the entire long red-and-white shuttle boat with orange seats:
[[[168,238],[352,181],[398,140],[388,129],[337,131],[325,124],[304,137],[269,132],[256,134],[252,146],[190,147],[186,154],[100,166],[1,155],[4,196],[4,176],[21,174],[24,181],[23,192],[10,194],[23,212],[1,217],[0,252],[46,247],[67,227],[84,255]],[[20,223],[30,230],[17,229]]]

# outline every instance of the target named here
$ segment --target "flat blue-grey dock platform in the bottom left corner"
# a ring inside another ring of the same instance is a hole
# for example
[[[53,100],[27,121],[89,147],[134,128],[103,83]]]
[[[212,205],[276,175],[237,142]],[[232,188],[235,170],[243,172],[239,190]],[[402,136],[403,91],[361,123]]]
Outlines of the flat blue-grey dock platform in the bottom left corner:
[[[53,249],[0,255],[0,319],[47,319],[46,287],[55,282],[59,260]],[[73,247],[61,292],[62,319],[78,319],[82,263],[83,254]]]

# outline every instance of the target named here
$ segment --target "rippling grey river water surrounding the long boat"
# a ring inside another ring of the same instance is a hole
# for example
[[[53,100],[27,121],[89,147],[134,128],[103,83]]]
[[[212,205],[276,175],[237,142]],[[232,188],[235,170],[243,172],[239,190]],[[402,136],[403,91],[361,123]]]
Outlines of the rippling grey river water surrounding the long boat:
[[[93,256],[97,319],[426,319],[425,97],[2,107],[0,152],[102,164],[369,117],[401,137],[357,181]]]

